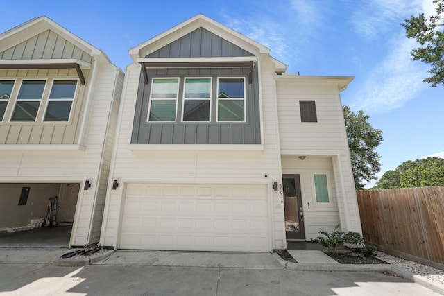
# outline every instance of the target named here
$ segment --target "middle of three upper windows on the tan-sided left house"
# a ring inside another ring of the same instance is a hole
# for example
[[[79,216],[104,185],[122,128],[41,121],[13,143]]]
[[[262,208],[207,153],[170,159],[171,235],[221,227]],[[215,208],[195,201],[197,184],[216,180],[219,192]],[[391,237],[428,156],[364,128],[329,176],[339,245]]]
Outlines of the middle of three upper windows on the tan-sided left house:
[[[24,80],[11,121],[35,121],[46,81]]]

